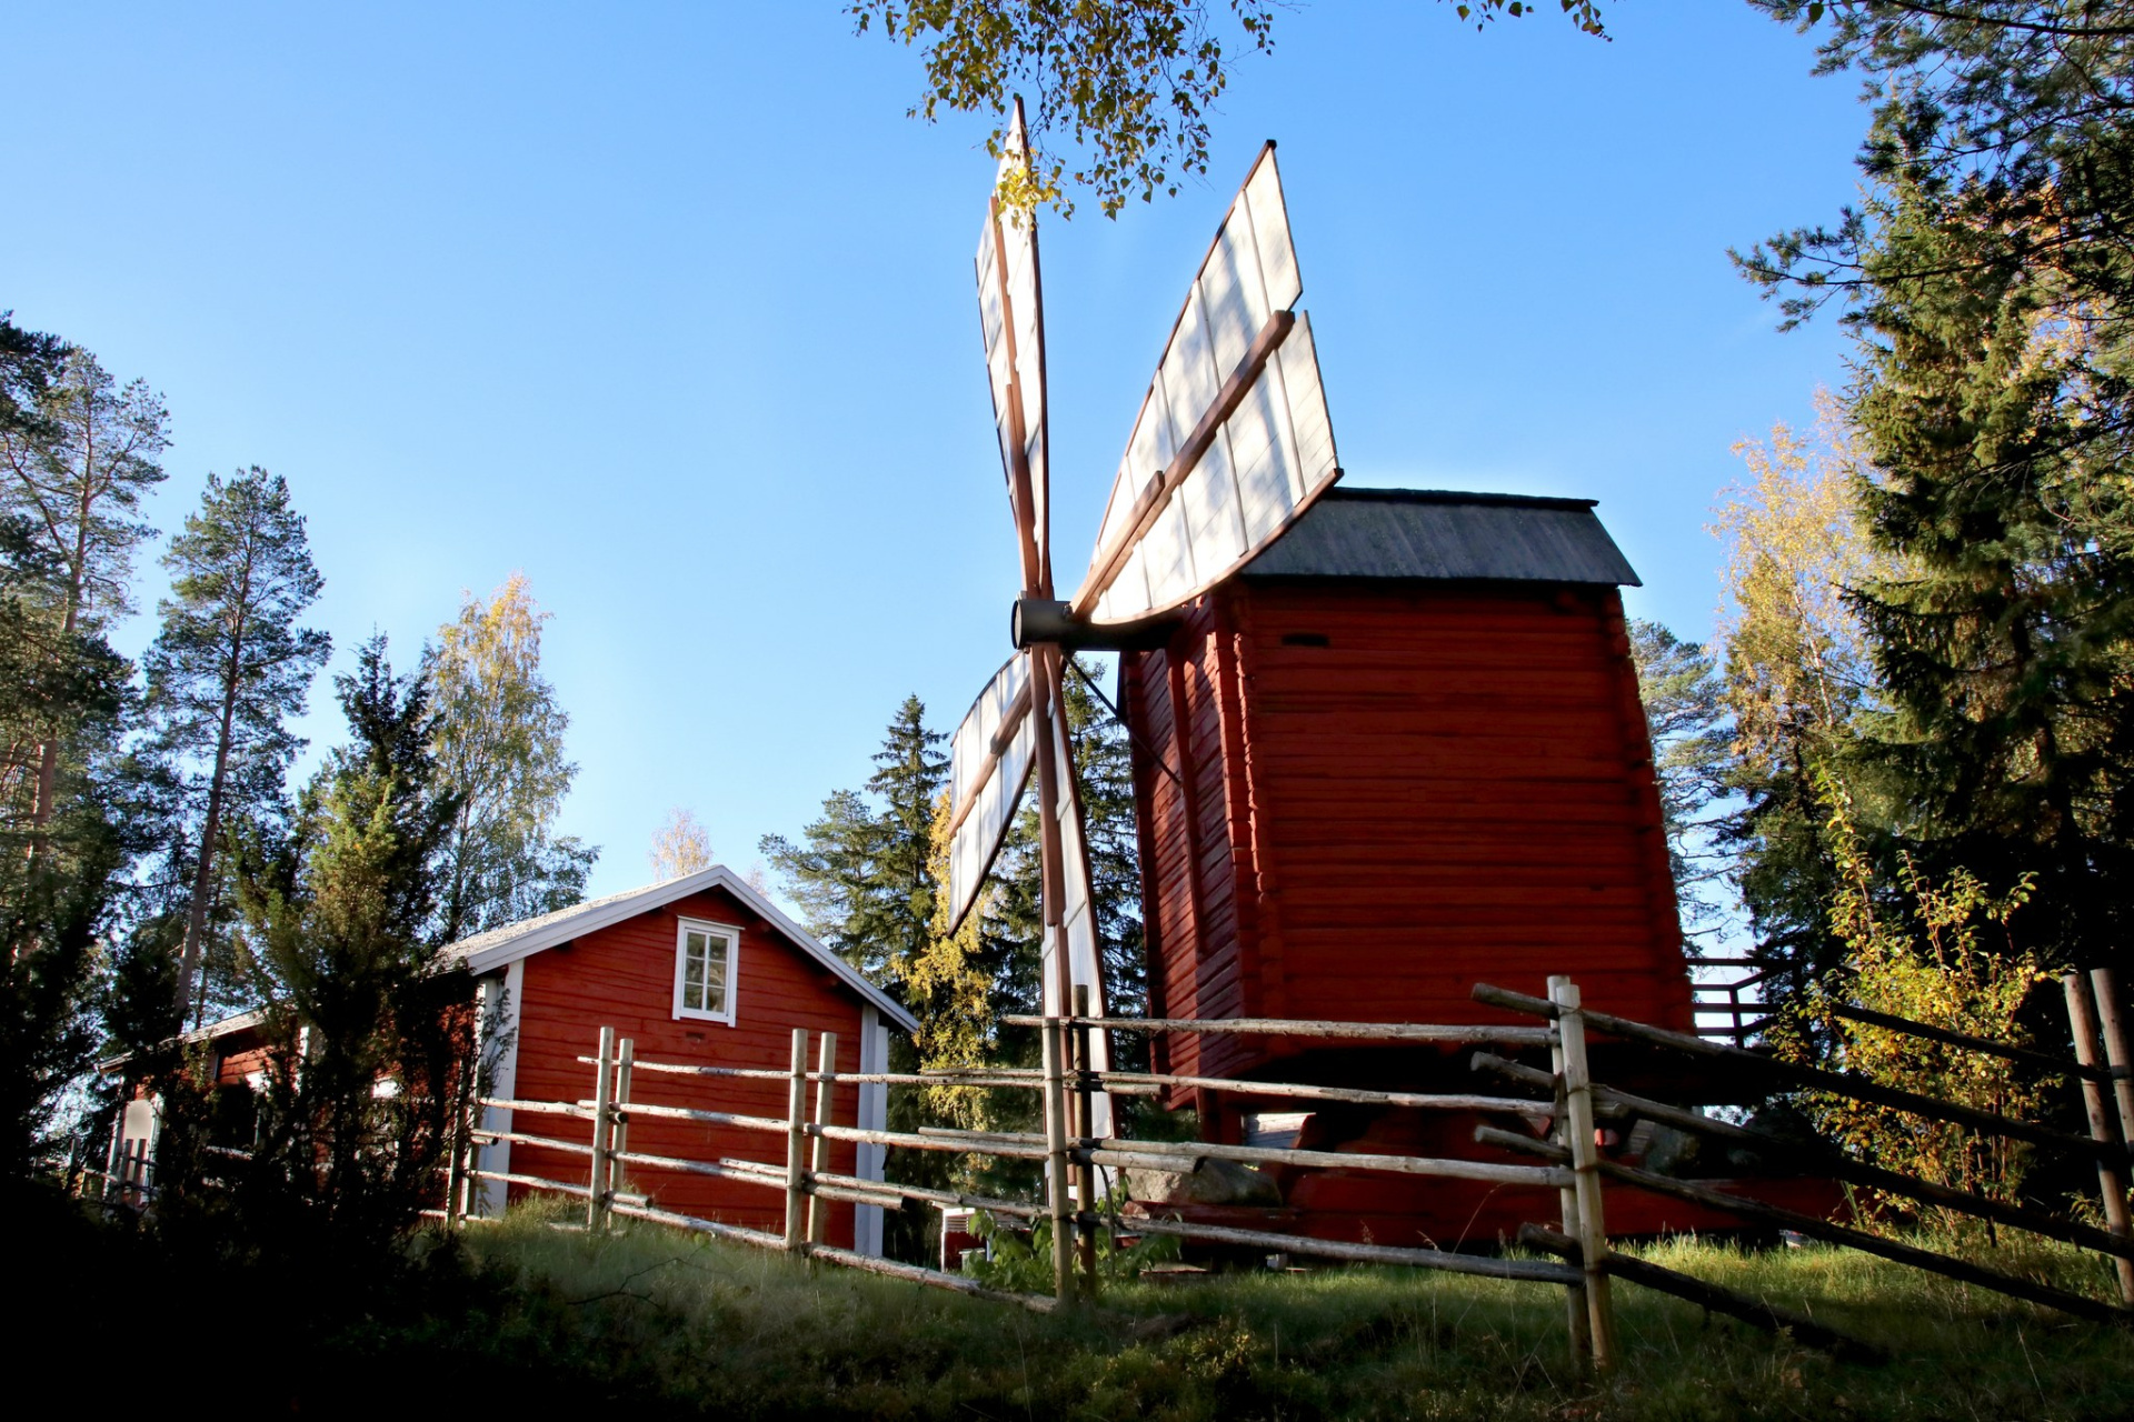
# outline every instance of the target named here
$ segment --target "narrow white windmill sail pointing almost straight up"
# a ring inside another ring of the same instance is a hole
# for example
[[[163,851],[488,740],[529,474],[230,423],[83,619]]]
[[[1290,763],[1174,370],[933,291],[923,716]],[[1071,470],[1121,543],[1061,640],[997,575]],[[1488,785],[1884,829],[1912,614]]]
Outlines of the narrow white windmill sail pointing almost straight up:
[[[1022,102],[1007,130],[1001,177],[1029,166]],[[1031,539],[1037,567],[1050,567],[1050,460],[1046,446],[1046,311],[1037,271],[1037,213],[988,203],[977,239],[977,316],[986,339],[986,375],[992,384],[992,424],[1007,471],[1007,501],[1016,510],[1016,475],[1031,475]],[[1037,588],[1026,588],[1035,593]]]

